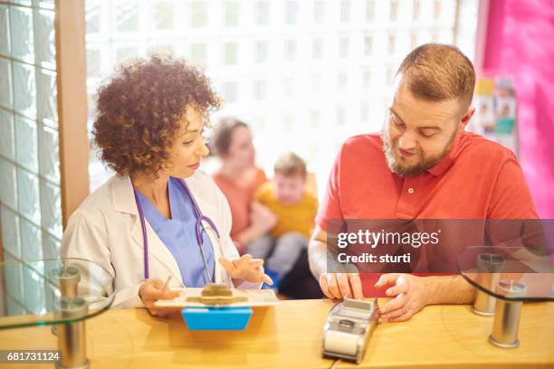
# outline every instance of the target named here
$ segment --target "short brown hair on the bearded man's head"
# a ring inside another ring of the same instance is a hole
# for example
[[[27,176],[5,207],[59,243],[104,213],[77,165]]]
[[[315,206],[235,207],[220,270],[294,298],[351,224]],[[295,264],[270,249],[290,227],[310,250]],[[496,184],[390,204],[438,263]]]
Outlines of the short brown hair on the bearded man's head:
[[[430,101],[459,99],[464,110],[473,99],[473,63],[453,45],[425,43],[407,54],[396,75],[416,98]]]

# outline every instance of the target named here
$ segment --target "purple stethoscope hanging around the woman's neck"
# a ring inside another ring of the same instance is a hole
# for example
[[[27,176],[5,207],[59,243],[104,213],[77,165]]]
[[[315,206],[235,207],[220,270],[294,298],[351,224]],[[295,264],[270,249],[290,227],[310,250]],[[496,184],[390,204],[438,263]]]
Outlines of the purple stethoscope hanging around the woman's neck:
[[[193,194],[190,192],[190,189],[186,185],[185,181],[182,178],[179,178],[179,183],[182,185],[183,189],[185,190],[186,194],[188,195],[188,198],[193,203],[193,208],[195,209],[196,213],[196,224],[195,224],[195,232],[196,232],[196,242],[198,244],[198,247],[200,248],[200,253],[202,254],[202,260],[204,260],[204,270],[205,270],[205,276],[208,281],[215,283],[215,276],[214,278],[210,277],[210,271],[207,265],[207,260],[205,259],[205,253],[204,253],[204,240],[202,239],[202,229],[204,228],[206,234],[207,230],[204,227],[203,221],[208,223],[208,225],[214,230],[215,236],[217,237],[217,244],[219,245],[220,252],[223,255],[223,251],[221,251],[221,244],[219,243],[219,232],[217,231],[217,227],[215,227],[215,222],[213,222],[210,218],[205,216],[201,211],[200,207],[198,206],[198,203],[196,203],[196,199],[193,196]],[[135,203],[137,203],[137,209],[139,209],[139,219],[140,219],[140,226],[142,228],[142,244],[144,245],[144,278],[149,278],[149,271],[148,271],[148,237],[147,237],[147,230],[146,230],[146,222],[144,219],[144,212],[142,211],[142,206],[140,206],[139,202],[139,195],[137,194],[137,190],[133,187],[133,194],[135,194]]]

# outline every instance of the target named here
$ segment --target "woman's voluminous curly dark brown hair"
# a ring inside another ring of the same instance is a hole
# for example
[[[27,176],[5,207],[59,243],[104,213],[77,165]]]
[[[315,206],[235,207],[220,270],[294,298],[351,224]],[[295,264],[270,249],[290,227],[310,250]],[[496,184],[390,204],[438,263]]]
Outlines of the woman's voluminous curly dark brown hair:
[[[151,56],[121,65],[100,87],[92,133],[101,160],[119,175],[157,178],[186,109],[199,109],[207,120],[220,106],[202,71],[182,59]]]

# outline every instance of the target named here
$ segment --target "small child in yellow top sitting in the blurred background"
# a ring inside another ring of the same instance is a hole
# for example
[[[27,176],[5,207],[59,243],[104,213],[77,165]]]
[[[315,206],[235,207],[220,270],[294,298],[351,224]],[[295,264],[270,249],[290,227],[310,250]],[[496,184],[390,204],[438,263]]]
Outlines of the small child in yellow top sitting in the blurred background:
[[[281,156],[274,166],[274,178],[254,194],[277,218],[272,230],[245,246],[254,258],[265,261],[265,272],[272,277],[274,288],[294,266],[308,240],[318,212],[318,200],[305,189],[306,163],[293,153]]]

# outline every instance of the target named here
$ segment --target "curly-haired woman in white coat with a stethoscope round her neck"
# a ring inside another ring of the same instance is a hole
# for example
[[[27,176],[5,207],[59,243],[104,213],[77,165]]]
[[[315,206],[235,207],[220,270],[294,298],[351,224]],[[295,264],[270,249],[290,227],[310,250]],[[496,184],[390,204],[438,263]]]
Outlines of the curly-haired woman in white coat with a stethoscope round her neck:
[[[93,134],[116,175],[72,213],[61,254],[110,271],[113,307],[165,315],[154,302],[177,297],[163,289],[168,276],[186,287],[272,283],[263,260],[239,257],[224,194],[198,170],[219,106],[204,74],[165,57],[124,65],[100,88]]]

